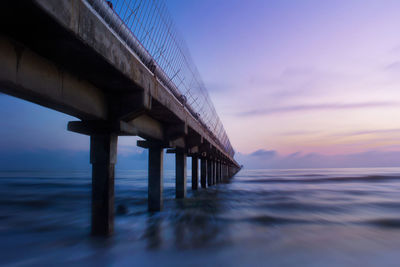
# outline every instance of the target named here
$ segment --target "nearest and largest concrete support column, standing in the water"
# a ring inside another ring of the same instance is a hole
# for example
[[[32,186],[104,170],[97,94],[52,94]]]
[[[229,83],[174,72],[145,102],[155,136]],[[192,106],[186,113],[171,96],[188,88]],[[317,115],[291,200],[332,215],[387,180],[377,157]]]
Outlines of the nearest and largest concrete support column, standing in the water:
[[[90,136],[92,164],[92,234],[111,235],[114,230],[114,170],[118,136]]]

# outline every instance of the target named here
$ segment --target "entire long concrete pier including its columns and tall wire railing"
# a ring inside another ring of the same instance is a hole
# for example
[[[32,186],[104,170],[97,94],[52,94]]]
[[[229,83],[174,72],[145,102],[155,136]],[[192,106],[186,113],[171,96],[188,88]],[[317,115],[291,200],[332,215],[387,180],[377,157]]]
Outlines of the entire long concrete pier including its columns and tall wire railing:
[[[175,153],[176,198],[239,171],[234,150],[183,40],[159,1],[6,1],[0,90],[77,117],[90,136],[94,235],[114,225],[118,136],[148,149],[148,208],[163,208],[163,155]],[[28,135],[28,133],[27,133]],[[200,162],[199,162],[200,161]],[[200,175],[199,175],[200,169]]]

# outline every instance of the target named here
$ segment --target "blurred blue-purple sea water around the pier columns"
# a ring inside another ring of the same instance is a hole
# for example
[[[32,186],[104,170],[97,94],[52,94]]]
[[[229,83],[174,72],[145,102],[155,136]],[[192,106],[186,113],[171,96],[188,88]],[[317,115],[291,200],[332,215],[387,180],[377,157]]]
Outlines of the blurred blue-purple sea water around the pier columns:
[[[116,175],[115,235],[93,238],[90,173],[0,173],[0,264],[398,266],[400,169],[242,170],[147,212],[146,172]],[[190,179],[188,179],[190,181]],[[190,182],[188,182],[190,188]]]

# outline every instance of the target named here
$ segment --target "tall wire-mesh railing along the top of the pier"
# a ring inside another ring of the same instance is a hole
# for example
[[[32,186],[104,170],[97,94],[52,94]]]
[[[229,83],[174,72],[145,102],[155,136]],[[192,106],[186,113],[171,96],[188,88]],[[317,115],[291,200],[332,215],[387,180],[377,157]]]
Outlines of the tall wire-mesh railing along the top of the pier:
[[[189,50],[162,0],[86,0],[156,77],[209,131],[234,150]]]

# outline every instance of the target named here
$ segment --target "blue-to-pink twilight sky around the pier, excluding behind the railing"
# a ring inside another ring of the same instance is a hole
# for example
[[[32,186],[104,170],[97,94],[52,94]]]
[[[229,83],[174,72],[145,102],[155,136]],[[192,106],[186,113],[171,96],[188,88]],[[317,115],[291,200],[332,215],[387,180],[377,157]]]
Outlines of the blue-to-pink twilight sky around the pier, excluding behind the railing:
[[[245,166],[400,166],[400,1],[166,3]],[[4,151],[89,149],[34,104],[0,95],[0,119]]]

